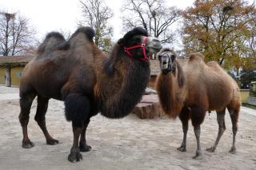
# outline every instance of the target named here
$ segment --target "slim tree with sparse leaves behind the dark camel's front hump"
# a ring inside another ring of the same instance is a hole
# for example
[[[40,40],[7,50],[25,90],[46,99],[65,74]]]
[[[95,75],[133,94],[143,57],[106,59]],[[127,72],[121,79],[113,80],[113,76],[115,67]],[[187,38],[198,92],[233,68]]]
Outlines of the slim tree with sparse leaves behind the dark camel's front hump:
[[[113,27],[109,26],[108,21],[114,16],[112,10],[106,6],[104,0],[84,0],[82,4],[83,20],[78,23],[89,25],[94,28],[95,44],[104,48],[104,38],[110,38],[113,34]]]

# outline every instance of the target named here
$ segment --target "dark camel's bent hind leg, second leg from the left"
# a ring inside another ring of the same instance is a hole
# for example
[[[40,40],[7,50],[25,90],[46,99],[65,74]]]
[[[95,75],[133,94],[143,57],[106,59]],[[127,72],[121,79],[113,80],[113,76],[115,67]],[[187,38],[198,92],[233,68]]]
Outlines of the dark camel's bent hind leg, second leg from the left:
[[[58,144],[58,140],[54,140],[46,128],[46,111],[48,109],[48,101],[49,98],[38,95],[38,107],[34,120],[38,122],[39,127],[42,129],[42,132],[46,137],[46,144]]]

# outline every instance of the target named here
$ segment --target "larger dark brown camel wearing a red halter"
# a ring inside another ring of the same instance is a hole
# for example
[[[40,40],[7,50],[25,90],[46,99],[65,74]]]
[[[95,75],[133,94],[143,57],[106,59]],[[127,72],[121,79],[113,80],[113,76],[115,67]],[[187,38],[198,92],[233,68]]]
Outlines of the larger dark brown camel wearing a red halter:
[[[82,159],[90,150],[86,128],[97,113],[109,118],[126,117],[140,101],[150,78],[147,57],[162,45],[148,37],[146,30],[135,28],[121,38],[106,57],[93,42],[94,30],[79,28],[66,42],[53,32],[38,47],[38,57],[30,61],[20,85],[23,148],[34,144],[27,134],[30,107],[38,97],[35,121],[46,136],[47,144],[58,144],[46,128],[46,110],[50,98],[65,101],[66,120],[72,121],[74,143],[68,160]],[[134,48],[129,48],[134,46]],[[80,136],[80,140],[79,140]],[[79,140],[79,141],[78,141]]]

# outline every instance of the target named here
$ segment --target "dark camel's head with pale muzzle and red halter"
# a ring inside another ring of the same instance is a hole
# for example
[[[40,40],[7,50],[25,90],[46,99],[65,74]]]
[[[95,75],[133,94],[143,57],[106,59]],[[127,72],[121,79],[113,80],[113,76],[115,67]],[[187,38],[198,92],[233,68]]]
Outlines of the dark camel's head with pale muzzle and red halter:
[[[126,33],[119,39],[118,45],[122,46],[128,57],[141,61],[148,61],[151,54],[158,53],[162,49],[158,38],[149,37],[147,31],[140,27]]]

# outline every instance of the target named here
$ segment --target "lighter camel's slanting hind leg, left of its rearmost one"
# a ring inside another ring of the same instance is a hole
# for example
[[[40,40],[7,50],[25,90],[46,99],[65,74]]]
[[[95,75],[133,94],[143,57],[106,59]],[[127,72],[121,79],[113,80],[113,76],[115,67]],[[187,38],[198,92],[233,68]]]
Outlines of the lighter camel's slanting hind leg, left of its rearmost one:
[[[225,109],[222,109],[222,111],[218,111],[217,112],[217,121],[218,121],[218,136],[214,142],[214,145],[210,148],[206,148],[206,151],[208,152],[214,152],[217,145],[218,145],[218,142],[219,140],[221,139],[222,137],[222,134],[223,132],[226,130],[226,125],[225,125],[225,111],[226,111],[226,108]]]

